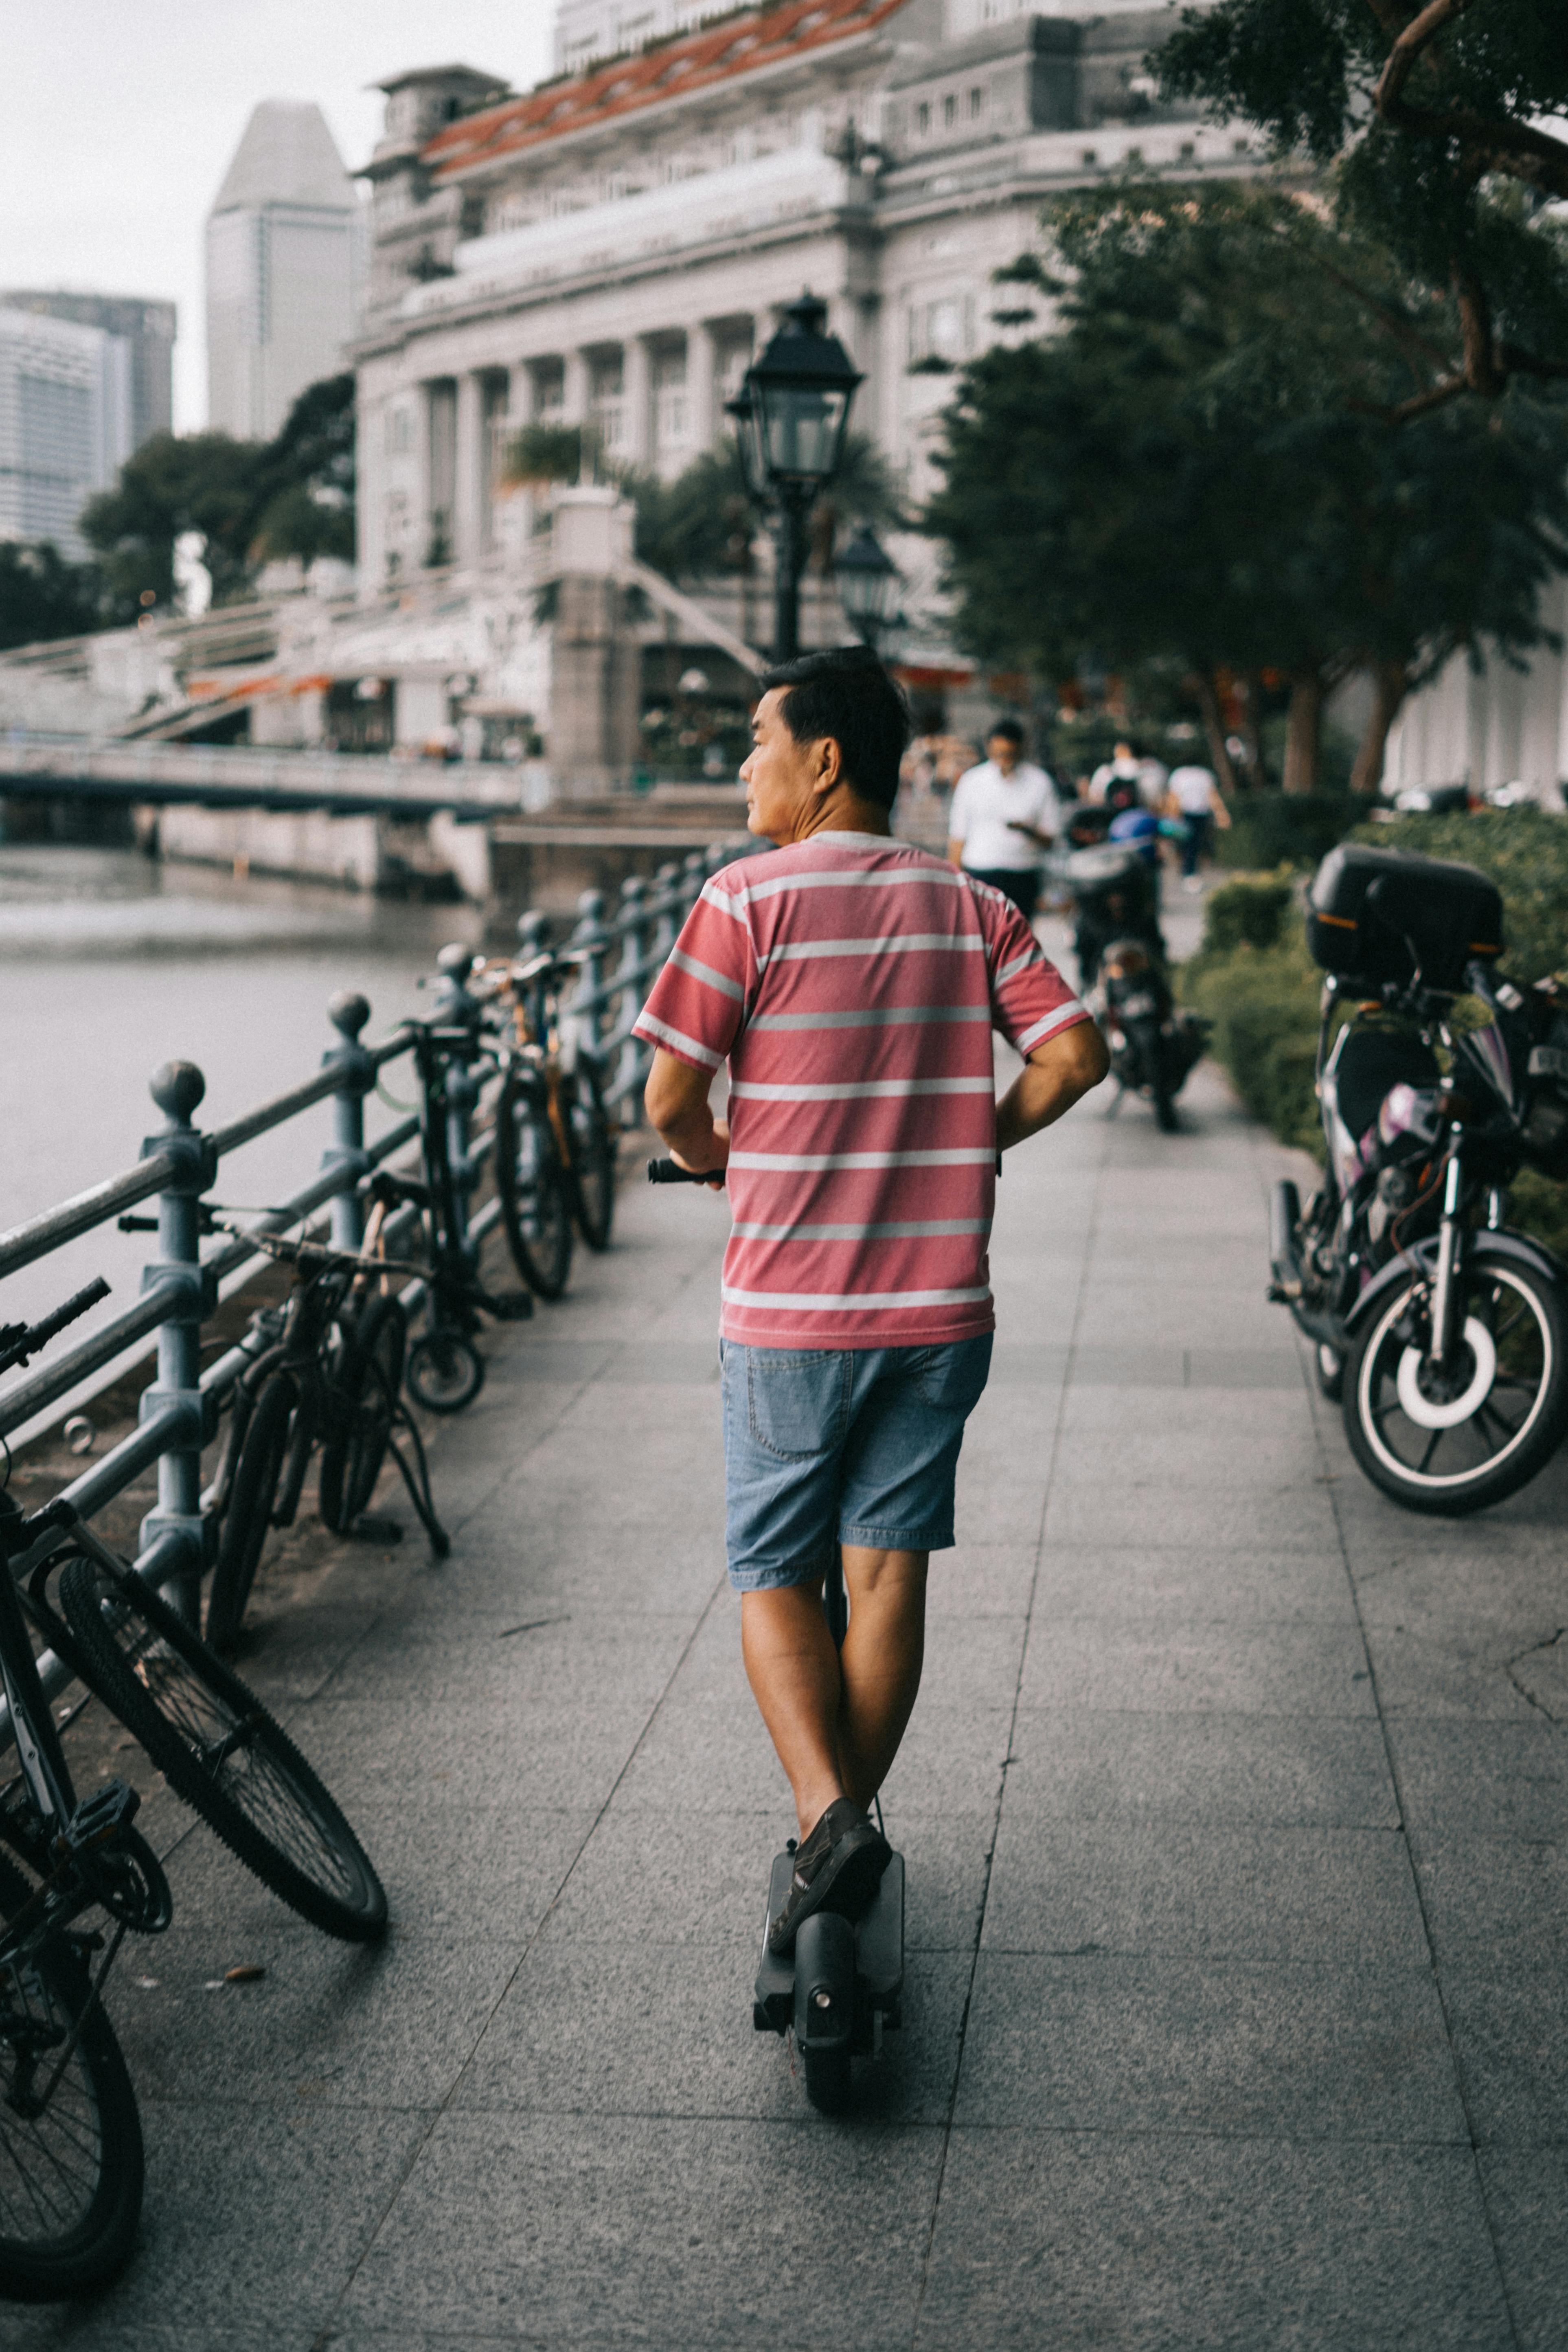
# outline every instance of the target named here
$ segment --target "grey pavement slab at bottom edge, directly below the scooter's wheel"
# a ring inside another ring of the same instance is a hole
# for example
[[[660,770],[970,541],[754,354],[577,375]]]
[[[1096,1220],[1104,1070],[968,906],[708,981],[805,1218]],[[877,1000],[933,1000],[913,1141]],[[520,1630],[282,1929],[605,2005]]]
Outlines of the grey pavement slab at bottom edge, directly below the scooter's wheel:
[[[346,2340],[820,2345],[780,2281],[811,2249],[867,2352],[914,2336],[940,2131],[813,2119],[449,2114],[334,2314]]]

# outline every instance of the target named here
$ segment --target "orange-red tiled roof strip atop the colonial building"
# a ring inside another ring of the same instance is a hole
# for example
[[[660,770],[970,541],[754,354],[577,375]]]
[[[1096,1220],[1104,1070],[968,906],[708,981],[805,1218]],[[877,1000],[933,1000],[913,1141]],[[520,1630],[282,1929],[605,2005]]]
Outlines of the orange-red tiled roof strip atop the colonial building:
[[[827,47],[851,33],[870,33],[905,0],[785,0],[665,40],[639,56],[616,56],[571,82],[550,82],[524,99],[505,99],[477,115],[463,115],[425,143],[423,162],[437,179],[468,172],[501,155],[517,155],[543,139],[611,122],[618,115],[684,96],[731,75],[778,64],[802,49]]]

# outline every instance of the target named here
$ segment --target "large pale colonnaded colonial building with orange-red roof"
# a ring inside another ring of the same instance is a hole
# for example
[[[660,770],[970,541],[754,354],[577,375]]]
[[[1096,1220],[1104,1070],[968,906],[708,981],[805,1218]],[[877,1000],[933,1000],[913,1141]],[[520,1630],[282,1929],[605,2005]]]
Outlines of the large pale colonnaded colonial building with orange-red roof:
[[[1159,103],[1171,14],[1138,0],[651,14],[639,33],[630,0],[564,0],[562,54],[599,61],[527,96],[468,66],[381,85],[364,593],[484,560],[522,423],[592,419],[611,456],[677,473],[802,287],[865,369],[856,428],[919,499],[943,365],[1030,332],[994,322],[1020,303],[992,270],[1039,242],[1041,200],[1138,165],[1237,174],[1255,148]]]

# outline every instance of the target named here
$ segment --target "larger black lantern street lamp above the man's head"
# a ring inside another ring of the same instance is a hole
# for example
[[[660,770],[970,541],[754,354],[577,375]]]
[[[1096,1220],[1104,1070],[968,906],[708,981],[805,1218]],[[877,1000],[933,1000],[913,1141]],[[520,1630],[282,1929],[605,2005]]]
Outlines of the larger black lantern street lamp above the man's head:
[[[773,661],[799,652],[799,576],[806,564],[806,515],[844,459],[849,402],[863,381],[825,334],[827,303],[802,294],[790,303],[769,348],[729,402],[741,428],[745,487],[773,508]]]

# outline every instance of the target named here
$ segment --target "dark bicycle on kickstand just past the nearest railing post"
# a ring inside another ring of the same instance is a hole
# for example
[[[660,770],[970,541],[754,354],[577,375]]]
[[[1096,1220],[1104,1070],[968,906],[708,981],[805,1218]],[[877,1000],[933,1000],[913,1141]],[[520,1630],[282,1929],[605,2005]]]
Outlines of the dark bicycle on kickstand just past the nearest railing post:
[[[317,1449],[317,1510],[334,1534],[353,1531],[390,1454],[430,1550],[437,1559],[451,1550],[430,1501],[418,1428],[400,1402],[407,1315],[386,1289],[393,1272],[414,1275],[421,1268],[388,1258],[381,1247],[388,1209],[423,1188],[376,1174],[369,1190],[374,1209],[364,1251],[247,1232],[256,1249],[294,1268],[294,1289],[284,1305],[259,1308],[252,1317],[247,1345],[254,1359],[235,1383],[228,1437],[202,1498],[219,1522],[207,1597],[214,1649],[233,1646],[268,1531],[294,1524]],[[242,1230],[212,1211],[207,1223]],[[371,1284],[381,1284],[374,1296]]]

